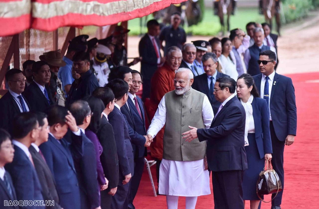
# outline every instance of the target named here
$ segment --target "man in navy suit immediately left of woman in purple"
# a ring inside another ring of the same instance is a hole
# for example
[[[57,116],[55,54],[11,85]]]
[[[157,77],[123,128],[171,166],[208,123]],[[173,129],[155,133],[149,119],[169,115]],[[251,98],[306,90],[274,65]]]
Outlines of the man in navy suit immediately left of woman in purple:
[[[97,181],[96,155],[95,148],[91,140],[85,136],[85,129],[91,122],[91,110],[89,104],[84,100],[78,100],[70,105],[70,112],[83,133],[82,146],[80,153],[75,154],[71,149],[74,167],[77,172],[80,195],[81,209],[100,208],[100,191]]]

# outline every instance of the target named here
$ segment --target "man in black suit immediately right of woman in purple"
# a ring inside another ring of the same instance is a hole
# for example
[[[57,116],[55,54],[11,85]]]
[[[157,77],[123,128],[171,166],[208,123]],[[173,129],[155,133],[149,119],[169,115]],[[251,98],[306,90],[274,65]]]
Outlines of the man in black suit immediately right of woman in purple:
[[[100,128],[96,134],[103,148],[100,161],[104,175],[108,179],[108,189],[101,191],[101,208],[110,209],[112,196],[115,195],[119,183],[119,164],[112,125],[108,122],[108,114],[114,109],[114,94],[108,87],[98,87],[93,96],[100,98],[105,106],[102,112]]]

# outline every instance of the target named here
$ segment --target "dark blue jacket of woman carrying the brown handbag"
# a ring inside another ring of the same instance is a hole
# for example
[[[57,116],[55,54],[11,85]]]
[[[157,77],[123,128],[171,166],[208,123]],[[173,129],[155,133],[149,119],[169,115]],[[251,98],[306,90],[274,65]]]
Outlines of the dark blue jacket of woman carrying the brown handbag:
[[[255,124],[255,138],[260,159],[272,153],[269,129],[269,109],[265,99],[254,97],[251,103]]]

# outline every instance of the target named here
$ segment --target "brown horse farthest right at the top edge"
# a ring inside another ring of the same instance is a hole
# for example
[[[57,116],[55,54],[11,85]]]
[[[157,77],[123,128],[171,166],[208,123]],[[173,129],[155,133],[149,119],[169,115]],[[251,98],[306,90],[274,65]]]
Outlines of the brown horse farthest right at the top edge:
[[[277,32],[280,36],[280,6],[279,6],[279,0],[263,0],[263,14],[265,16],[265,21],[269,23],[270,30],[272,29],[272,18],[276,18],[277,23]],[[277,7],[277,8],[276,8]]]

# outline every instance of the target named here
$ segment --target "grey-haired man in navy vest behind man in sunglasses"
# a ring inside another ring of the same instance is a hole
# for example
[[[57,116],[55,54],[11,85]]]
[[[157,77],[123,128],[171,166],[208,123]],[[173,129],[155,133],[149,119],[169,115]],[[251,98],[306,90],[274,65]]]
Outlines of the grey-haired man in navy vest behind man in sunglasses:
[[[256,76],[258,74],[261,74],[259,69],[259,64],[257,63],[257,60],[259,60],[260,52],[265,50],[271,50],[275,52],[276,54],[275,47],[269,47],[263,44],[264,38],[265,38],[265,35],[264,35],[263,28],[257,27],[254,31],[255,44],[252,47],[248,48],[249,53],[248,52],[245,53],[244,61],[246,65],[248,64],[247,73],[249,73],[251,76]]]

